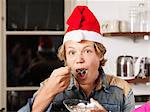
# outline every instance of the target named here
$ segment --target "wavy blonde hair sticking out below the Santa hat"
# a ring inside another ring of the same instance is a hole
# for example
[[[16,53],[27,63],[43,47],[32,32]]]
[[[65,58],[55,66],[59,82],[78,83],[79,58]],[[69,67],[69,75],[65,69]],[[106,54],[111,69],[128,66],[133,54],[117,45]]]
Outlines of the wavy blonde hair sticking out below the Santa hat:
[[[107,61],[104,58],[106,48],[103,46],[103,44],[97,42],[94,42],[94,48],[96,50],[97,55],[100,57],[100,65],[104,66]],[[57,56],[61,61],[64,61],[64,63],[66,64],[66,52],[64,44],[59,47]]]

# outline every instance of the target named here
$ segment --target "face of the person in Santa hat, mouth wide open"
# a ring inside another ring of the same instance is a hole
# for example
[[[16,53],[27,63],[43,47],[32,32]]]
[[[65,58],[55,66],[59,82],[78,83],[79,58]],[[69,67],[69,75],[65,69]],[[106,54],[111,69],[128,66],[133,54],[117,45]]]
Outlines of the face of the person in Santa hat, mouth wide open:
[[[94,83],[98,77],[100,57],[96,54],[94,43],[87,40],[81,42],[68,41],[65,43],[66,64],[80,84]],[[86,70],[86,73],[78,73]]]

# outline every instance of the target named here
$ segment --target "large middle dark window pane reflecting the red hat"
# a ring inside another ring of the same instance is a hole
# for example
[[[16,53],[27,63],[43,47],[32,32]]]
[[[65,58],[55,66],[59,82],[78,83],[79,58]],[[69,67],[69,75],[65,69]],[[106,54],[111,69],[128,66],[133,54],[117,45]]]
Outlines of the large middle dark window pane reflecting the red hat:
[[[57,58],[62,36],[7,36],[7,86],[40,86],[63,66]]]

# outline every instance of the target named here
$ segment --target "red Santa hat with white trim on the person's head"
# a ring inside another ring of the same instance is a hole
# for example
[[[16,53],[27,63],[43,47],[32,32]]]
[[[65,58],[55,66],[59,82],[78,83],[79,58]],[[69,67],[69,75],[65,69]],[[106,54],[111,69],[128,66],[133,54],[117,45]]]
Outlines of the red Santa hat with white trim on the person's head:
[[[69,40],[77,42],[89,40],[102,43],[99,22],[87,6],[77,6],[69,17],[67,24],[69,27],[63,43]]]

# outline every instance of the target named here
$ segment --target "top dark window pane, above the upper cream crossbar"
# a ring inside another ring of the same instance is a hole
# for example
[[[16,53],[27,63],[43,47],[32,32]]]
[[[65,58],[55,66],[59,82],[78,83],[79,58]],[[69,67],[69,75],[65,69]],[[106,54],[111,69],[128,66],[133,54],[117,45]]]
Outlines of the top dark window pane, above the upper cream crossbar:
[[[64,0],[7,0],[7,30],[64,31]]]

